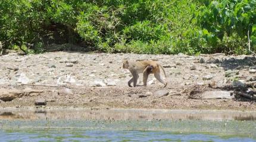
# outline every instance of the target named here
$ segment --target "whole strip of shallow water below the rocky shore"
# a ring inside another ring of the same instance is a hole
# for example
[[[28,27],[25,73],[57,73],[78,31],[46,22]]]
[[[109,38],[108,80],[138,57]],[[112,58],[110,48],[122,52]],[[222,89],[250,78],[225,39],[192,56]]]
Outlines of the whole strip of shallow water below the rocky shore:
[[[256,141],[256,112],[0,109],[0,141]]]

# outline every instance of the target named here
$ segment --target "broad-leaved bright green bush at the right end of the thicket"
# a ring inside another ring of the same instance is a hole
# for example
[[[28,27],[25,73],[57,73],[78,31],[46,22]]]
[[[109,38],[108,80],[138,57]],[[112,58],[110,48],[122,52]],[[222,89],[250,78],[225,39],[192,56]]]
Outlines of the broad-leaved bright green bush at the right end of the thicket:
[[[210,52],[246,53],[248,33],[255,50],[255,0],[205,0],[203,4],[196,12],[196,18],[203,29],[199,35],[211,47]]]

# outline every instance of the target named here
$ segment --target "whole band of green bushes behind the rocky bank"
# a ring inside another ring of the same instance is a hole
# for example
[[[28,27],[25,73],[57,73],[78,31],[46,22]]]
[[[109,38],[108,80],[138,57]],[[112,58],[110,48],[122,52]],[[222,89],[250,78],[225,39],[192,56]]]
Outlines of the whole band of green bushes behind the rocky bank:
[[[77,44],[110,53],[248,53],[256,0],[2,0],[4,49]]]

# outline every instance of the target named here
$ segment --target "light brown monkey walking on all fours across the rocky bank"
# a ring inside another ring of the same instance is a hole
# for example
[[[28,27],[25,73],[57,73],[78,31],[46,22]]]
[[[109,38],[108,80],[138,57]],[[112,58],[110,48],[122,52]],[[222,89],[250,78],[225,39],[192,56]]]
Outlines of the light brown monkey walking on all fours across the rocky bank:
[[[164,72],[164,76],[166,76],[166,71],[164,70],[164,67],[158,63],[157,61],[153,60],[139,60],[139,61],[129,61],[124,60],[123,61],[123,69],[129,69],[130,73],[132,73],[132,79],[128,81],[128,86],[132,87],[130,83],[133,82],[133,87],[136,87],[137,81],[139,78],[139,73],[143,73],[143,85],[146,86],[146,81],[148,80],[148,76],[151,73],[154,73],[155,78],[164,84],[164,87],[166,87],[167,82],[164,82],[164,80],[161,79],[160,76],[160,68]]]

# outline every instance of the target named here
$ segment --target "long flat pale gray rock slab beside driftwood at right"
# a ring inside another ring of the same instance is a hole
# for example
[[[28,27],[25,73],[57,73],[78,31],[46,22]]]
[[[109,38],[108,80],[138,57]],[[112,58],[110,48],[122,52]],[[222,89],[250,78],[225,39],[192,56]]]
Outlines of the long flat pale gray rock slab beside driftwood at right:
[[[202,93],[202,99],[233,99],[228,91],[206,91]]]

